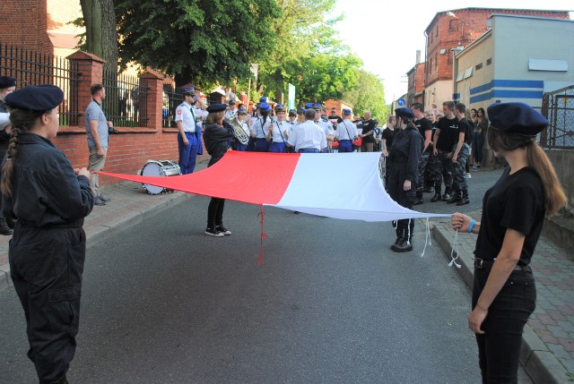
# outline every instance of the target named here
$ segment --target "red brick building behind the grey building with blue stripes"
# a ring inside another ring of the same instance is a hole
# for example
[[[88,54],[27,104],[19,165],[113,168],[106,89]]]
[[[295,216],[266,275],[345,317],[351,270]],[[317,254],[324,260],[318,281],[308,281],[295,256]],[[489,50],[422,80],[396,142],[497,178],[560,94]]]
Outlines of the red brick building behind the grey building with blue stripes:
[[[424,105],[441,106],[453,98],[453,57],[457,49],[467,47],[490,30],[488,19],[493,13],[570,19],[566,11],[533,11],[526,9],[462,8],[439,12],[424,31],[427,37],[424,70]],[[411,90],[409,90],[409,98]]]

